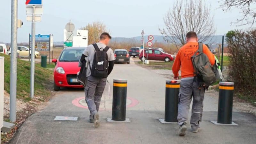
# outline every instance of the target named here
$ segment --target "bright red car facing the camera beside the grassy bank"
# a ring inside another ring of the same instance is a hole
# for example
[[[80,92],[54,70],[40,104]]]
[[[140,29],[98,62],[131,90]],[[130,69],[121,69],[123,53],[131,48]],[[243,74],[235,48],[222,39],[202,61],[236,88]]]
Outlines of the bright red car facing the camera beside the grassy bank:
[[[60,87],[83,88],[83,85],[76,79],[79,59],[85,47],[67,47],[62,50],[59,59],[52,59],[56,64],[54,76],[54,90],[60,90]]]

